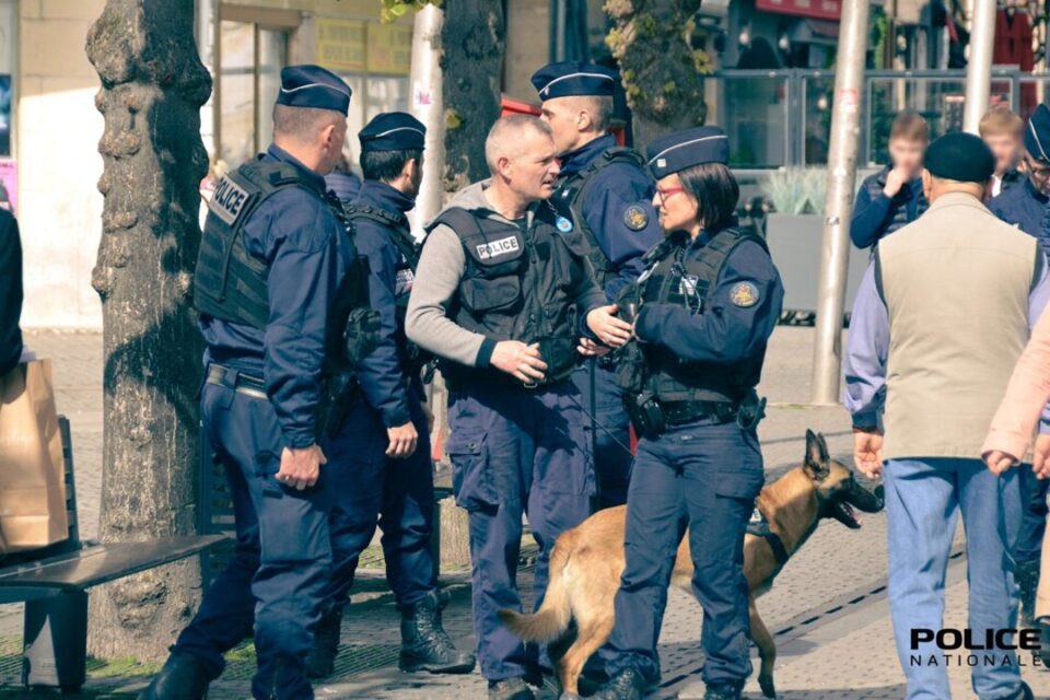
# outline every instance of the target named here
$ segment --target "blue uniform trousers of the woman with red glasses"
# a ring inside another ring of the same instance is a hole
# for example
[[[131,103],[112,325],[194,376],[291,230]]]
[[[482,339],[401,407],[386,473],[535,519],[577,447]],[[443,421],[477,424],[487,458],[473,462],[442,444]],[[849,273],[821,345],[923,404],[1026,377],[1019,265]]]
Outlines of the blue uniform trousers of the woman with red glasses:
[[[750,675],[744,530],[763,480],[758,436],[735,422],[697,421],[639,441],[616,627],[599,650],[610,675],[634,668],[650,681],[660,678],[656,642],[687,526],[696,567],[692,590],[703,606],[703,680],[739,681]]]

